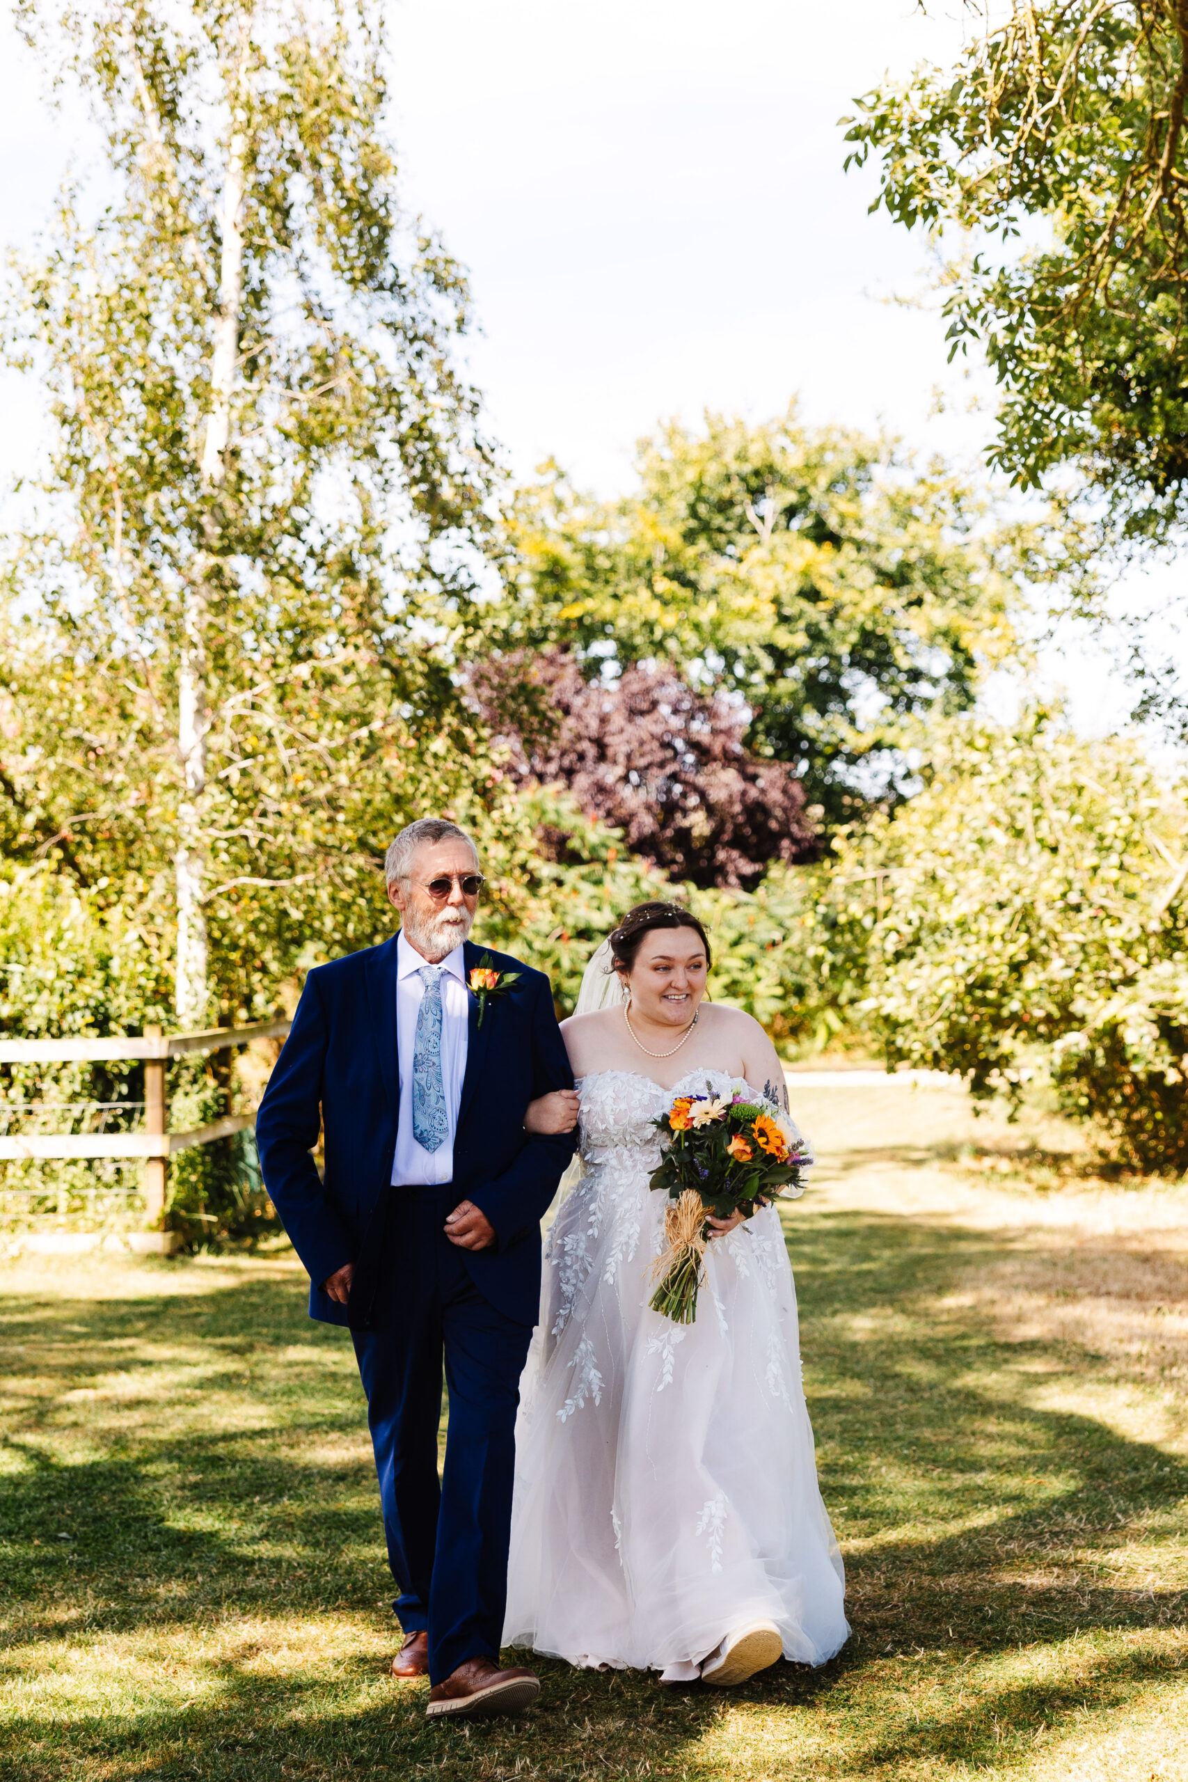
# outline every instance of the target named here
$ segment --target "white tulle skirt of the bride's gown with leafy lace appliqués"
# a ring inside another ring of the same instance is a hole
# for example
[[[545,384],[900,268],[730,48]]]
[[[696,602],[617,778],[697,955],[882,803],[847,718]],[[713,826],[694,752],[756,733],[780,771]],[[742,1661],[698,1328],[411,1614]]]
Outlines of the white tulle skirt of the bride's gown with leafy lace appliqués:
[[[696,1320],[673,1324],[648,1310],[655,1162],[645,1144],[588,1148],[549,1233],[504,1643],[686,1679],[766,1620],[784,1657],[821,1664],[850,1629],[780,1221],[764,1208],[714,1238]]]

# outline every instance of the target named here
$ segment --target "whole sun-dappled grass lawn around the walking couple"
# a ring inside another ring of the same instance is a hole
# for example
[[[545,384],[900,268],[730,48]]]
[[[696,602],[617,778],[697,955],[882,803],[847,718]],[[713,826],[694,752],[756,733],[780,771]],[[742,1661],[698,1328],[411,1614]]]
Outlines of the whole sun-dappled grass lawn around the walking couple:
[[[1054,1167],[951,1091],[794,1107],[826,1158],[785,1224],[832,1664],[666,1691],[541,1661],[524,1720],[427,1727],[299,1267],[18,1258],[0,1777],[1188,1778],[1184,1190]]]

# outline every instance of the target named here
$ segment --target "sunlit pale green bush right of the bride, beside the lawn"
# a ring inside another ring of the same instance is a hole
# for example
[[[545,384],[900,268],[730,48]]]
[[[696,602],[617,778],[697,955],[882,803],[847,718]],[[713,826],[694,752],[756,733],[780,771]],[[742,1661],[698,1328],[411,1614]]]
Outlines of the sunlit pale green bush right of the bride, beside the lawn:
[[[1047,1076],[1145,1169],[1188,1164],[1188,813],[1127,740],[1042,711],[933,734],[924,789],[839,846],[889,1062]],[[853,928],[851,928],[853,934]]]

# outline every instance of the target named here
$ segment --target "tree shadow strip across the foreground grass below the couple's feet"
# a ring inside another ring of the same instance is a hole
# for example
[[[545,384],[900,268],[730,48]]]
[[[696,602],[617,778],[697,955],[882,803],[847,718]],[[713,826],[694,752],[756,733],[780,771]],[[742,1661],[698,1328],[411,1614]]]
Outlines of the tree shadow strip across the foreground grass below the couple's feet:
[[[543,1695],[531,1714],[476,1725],[424,1720],[424,1688],[395,1688],[383,1677],[360,1684],[326,1668],[321,1675],[267,1677],[253,1654],[194,1666],[207,1700],[142,1705],[112,1713],[28,1714],[0,1752],[0,1777],[48,1782],[102,1775],[208,1782],[240,1778],[330,1778],[349,1773],[433,1775],[447,1782],[545,1777],[577,1782],[607,1775],[688,1777],[883,1777],[955,1775],[1028,1750],[1040,1727],[1053,1739],[1076,1729],[1085,1739],[1094,1716],[1119,1714],[1168,1679],[1167,1652],[1092,1652],[1076,1677],[971,1677],[958,1654],[912,1666],[834,1663],[800,1675],[777,1666],[764,1682],[723,1693],[689,1688],[679,1695],[638,1675],[574,1673],[540,1661]],[[360,1659],[362,1668],[362,1659]],[[932,1686],[921,1702],[912,1684]],[[210,1686],[216,1686],[214,1689]],[[745,1709],[739,1723],[737,1709]],[[1088,1711],[1088,1718],[1086,1718]],[[723,1720],[728,1718],[728,1725]],[[755,1741],[766,1716],[777,1737],[769,1753]],[[800,1748],[789,1748],[789,1730]],[[753,1762],[739,1752],[750,1734]],[[778,1753],[778,1755],[777,1755]]]

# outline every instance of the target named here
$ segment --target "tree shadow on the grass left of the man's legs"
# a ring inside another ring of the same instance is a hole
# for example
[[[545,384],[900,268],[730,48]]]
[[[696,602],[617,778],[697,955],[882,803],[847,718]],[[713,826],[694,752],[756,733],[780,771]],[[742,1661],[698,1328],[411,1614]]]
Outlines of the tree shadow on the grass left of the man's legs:
[[[37,1376],[5,1394],[0,1477],[0,1591],[21,1636],[39,1609],[57,1638],[167,1620],[178,1593],[360,1604],[379,1536],[362,1390],[349,1342],[294,1287],[53,1301],[0,1324],[4,1374]],[[340,1458],[319,1463],[326,1449]]]

